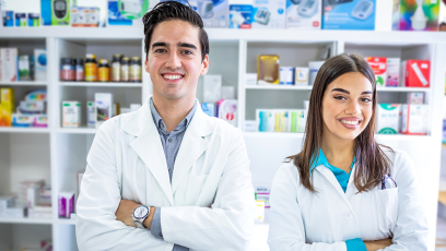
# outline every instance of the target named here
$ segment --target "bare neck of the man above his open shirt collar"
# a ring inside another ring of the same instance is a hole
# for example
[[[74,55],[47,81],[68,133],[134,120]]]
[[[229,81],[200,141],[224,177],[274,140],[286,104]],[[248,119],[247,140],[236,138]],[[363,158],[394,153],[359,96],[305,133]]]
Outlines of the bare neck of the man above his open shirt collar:
[[[189,111],[193,108],[193,97],[181,97],[177,99],[168,99],[161,95],[153,95],[153,105],[156,111],[163,119],[166,131],[174,131],[177,125],[186,118]]]

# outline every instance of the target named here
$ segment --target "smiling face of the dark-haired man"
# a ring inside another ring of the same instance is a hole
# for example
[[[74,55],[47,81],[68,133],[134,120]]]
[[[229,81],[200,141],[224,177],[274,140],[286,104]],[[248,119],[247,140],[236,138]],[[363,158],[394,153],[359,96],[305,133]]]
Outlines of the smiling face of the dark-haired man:
[[[153,95],[167,99],[195,98],[197,82],[209,68],[201,60],[199,28],[185,21],[166,21],[156,25],[145,59],[145,71],[153,83]]]

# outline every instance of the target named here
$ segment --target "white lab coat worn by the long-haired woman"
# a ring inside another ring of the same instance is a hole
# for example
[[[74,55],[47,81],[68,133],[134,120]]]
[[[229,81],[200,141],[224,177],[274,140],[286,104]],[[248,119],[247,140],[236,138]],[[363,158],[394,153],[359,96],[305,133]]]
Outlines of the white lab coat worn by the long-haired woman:
[[[292,163],[282,165],[271,188],[271,251],[345,251],[344,241],[354,238],[392,238],[385,251],[427,250],[429,228],[413,162],[400,151],[386,154],[398,188],[377,187],[362,193],[357,193],[353,174],[344,193],[324,165],[312,175],[318,191],[312,193],[301,184]]]

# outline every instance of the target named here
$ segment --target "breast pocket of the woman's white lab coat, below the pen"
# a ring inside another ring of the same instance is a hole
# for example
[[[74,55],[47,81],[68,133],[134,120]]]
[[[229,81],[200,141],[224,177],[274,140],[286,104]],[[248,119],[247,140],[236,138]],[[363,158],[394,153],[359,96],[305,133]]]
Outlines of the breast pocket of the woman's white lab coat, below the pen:
[[[375,190],[375,195],[379,230],[392,235],[398,217],[398,188]]]

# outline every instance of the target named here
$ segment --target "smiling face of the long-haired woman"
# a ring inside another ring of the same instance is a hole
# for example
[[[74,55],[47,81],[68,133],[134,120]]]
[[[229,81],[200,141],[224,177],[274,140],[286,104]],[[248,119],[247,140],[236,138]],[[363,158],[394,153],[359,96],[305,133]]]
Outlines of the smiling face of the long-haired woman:
[[[345,73],[331,82],[322,98],[324,133],[354,140],[373,115],[372,83],[360,72]]]

